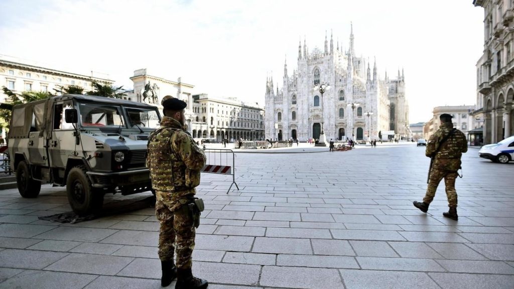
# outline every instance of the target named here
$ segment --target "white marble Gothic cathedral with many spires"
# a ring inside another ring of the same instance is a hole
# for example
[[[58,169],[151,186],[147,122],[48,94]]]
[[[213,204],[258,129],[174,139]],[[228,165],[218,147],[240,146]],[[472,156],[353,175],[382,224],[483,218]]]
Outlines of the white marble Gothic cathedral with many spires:
[[[328,83],[321,94],[314,87]],[[352,105],[353,104],[353,105]],[[305,141],[320,138],[324,131],[327,140],[383,139],[389,135],[408,137],[409,106],[405,98],[403,71],[397,79],[381,80],[376,61],[373,72],[370,63],[357,57],[354,51],[353,29],[350,49],[334,48],[325,36],[321,51],[308,51],[304,40],[298,46],[298,69],[288,75],[284,64],[282,88],[273,78],[266,80],[265,137]]]

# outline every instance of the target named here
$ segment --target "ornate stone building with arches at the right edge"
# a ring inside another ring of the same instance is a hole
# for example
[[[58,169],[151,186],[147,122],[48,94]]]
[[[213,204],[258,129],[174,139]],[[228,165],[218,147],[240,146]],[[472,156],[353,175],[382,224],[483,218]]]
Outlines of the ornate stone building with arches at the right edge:
[[[514,134],[514,4],[473,0],[484,8],[484,53],[476,63],[476,113],[484,144]]]

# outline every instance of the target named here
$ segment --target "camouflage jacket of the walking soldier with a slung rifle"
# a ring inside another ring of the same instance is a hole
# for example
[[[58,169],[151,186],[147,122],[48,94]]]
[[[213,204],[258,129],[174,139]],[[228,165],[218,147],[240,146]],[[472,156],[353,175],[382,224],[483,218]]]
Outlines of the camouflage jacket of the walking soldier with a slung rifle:
[[[461,166],[462,154],[468,151],[466,136],[460,130],[455,130],[444,143],[440,143],[452,129],[451,122],[443,123],[428,140],[425,155],[435,157],[434,168],[456,171]]]

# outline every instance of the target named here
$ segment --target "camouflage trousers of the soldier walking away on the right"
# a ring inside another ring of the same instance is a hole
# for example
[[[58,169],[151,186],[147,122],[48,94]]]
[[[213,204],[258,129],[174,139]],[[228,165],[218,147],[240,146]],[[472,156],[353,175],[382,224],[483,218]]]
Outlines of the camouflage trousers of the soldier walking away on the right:
[[[457,178],[457,172],[439,170],[432,168],[430,171],[430,178],[428,181],[428,188],[423,202],[430,204],[434,200],[435,191],[439,182],[444,178],[446,187],[446,196],[448,197],[448,207],[457,207],[457,191],[455,190],[455,179]]]

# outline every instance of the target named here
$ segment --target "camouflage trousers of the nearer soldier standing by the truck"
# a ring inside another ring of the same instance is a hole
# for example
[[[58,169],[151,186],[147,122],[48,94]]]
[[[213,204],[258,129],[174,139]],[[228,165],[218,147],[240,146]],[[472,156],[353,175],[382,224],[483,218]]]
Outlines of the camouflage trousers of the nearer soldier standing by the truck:
[[[193,263],[195,227],[193,215],[187,206],[181,206],[175,211],[175,202],[171,202],[169,192],[156,191],[155,214],[160,223],[159,230],[159,259],[173,261],[176,250],[176,266],[189,269]]]

